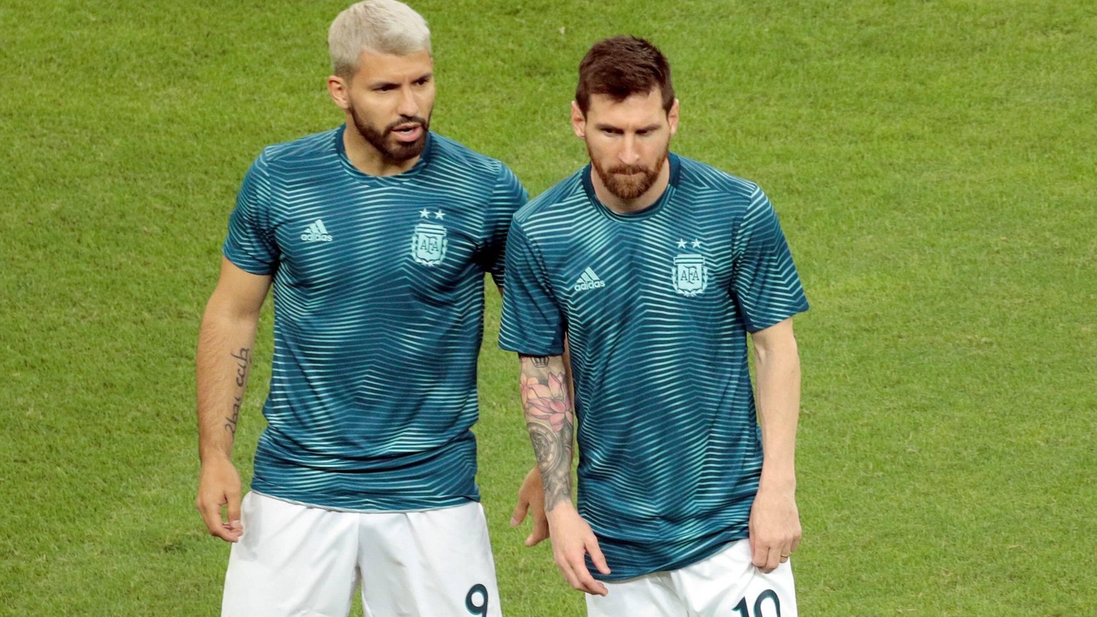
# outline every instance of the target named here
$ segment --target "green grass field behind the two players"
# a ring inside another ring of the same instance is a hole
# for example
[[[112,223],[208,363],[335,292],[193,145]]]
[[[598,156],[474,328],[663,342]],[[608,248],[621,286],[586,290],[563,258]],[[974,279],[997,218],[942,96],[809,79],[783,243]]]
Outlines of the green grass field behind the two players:
[[[201,616],[193,351],[268,144],[341,122],[349,0],[0,5],[0,615]],[[805,616],[1097,615],[1097,5],[1090,0],[419,0],[433,127],[538,194],[585,162],[578,60],[670,57],[674,148],[749,178],[813,304],[795,569]],[[482,362],[504,610],[583,615],[507,525],[532,464],[517,361]],[[262,429],[270,316],[241,419]]]

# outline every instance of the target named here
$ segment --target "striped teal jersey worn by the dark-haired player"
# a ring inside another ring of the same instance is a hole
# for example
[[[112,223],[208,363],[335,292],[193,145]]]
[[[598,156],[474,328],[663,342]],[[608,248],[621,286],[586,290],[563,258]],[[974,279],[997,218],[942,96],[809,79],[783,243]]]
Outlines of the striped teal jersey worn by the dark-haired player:
[[[747,537],[761,443],[747,332],[807,309],[769,199],[670,155],[643,212],[595,196],[590,167],[514,215],[499,344],[572,357],[579,514],[621,580]]]

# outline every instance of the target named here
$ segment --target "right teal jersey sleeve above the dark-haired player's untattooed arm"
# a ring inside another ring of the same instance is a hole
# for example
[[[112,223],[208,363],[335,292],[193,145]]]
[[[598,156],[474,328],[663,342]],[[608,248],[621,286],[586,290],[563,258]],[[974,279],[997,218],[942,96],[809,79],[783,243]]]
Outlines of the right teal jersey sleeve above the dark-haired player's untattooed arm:
[[[748,332],[765,330],[807,310],[807,297],[789,243],[761,188],[750,195],[732,251],[732,295]]]

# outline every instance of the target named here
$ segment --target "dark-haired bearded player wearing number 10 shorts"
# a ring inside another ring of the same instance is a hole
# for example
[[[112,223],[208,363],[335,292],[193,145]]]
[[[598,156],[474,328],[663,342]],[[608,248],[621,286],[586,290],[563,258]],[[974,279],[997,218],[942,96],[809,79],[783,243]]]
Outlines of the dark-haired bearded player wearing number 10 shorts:
[[[769,199],[670,153],[678,118],[655,46],[589,50],[572,125],[590,164],[514,215],[500,345],[521,358],[553,552],[588,615],[794,617],[791,317],[807,301]]]

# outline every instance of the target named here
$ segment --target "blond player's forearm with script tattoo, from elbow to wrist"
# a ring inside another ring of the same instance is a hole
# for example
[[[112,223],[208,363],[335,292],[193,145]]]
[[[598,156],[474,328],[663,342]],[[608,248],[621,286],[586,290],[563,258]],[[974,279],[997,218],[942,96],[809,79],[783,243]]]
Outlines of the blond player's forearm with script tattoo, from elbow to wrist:
[[[251,372],[256,316],[226,316],[211,301],[199,332],[199,456],[230,458],[244,391]]]

